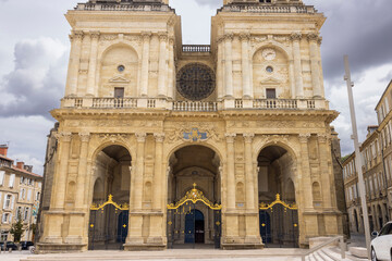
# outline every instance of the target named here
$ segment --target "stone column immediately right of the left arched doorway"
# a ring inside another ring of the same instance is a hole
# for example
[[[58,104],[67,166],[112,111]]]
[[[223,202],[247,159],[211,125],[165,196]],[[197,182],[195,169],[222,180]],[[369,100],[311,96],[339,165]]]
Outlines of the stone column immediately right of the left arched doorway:
[[[134,173],[134,210],[142,210],[143,201],[143,177],[144,177],[144,153],[147,134],[137,133],[136,171]]]

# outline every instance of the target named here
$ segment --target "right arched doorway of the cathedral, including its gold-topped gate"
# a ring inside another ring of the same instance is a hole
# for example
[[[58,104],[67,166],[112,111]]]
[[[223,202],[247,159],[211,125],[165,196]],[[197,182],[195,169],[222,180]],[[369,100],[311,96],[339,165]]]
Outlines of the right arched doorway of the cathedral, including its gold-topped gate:
[[[280,146],[269,146],[258,158],[260,236],[266,247],[298,247],[293,157]]]

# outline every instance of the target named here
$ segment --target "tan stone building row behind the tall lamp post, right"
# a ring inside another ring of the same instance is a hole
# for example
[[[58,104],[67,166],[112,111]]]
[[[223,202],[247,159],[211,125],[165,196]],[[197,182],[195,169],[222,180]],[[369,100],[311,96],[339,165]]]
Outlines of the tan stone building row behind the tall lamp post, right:
[[[370,231],[379,231],[392,216],[392,82],[376,107],[377,126],[369,126],[360,146]],[[343,177],[351,232],[364,233],[355,152],[343,161]]]

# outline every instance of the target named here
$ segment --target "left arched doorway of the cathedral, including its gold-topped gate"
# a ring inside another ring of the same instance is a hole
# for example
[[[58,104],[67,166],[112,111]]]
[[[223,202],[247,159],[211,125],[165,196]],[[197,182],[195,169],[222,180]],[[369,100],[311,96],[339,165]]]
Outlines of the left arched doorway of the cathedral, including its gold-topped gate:
[[[131,154],[122,146],[98,152],[93,175],[88,248],[122,249],[128,231]]]

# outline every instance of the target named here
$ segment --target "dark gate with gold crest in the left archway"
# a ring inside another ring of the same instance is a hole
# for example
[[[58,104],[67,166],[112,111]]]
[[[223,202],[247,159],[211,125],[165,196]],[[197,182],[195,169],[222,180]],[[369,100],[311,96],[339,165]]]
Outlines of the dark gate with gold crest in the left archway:
[[[122,249],[127,236],[128,215],[130,206],[114,202],[112,195],[109,195],[108,201],[102,204],[93,203],[88,233],[89,249]]]

